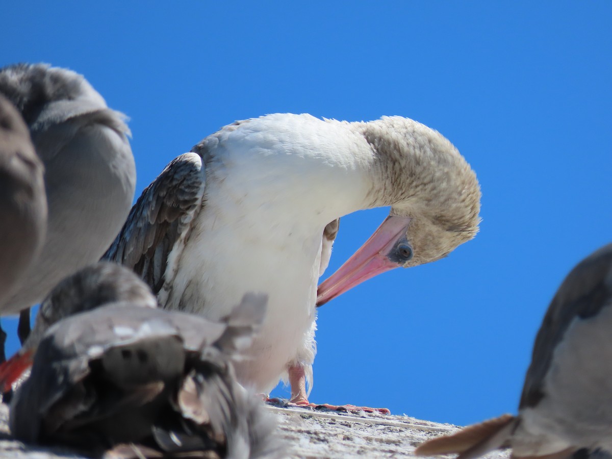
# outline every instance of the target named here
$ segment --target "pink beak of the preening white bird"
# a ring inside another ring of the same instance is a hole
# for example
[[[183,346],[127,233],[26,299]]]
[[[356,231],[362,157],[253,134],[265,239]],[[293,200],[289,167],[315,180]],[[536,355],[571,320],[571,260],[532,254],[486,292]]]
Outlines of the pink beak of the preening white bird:
[[[405,236],[409,223],[410,217],[389,215],[385,218],[370,239],[338,271],[319,285],[316,305],[325,304],[364,280],[401,266],[391,261],[387,254],[397,240]]]

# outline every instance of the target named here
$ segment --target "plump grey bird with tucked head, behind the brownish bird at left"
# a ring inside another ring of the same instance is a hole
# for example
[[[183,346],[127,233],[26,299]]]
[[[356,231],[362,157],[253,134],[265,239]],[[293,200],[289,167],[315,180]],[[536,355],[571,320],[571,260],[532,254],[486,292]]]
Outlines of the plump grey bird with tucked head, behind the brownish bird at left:
[[[38,261],[0,304],[0,314],[10,315],[102,256],[132,206],[136,169],[125,117],[110,110],[83,76],[45,64],[10,65],[0,69],[0,94],[29,127],[45,165],[48,201]]]

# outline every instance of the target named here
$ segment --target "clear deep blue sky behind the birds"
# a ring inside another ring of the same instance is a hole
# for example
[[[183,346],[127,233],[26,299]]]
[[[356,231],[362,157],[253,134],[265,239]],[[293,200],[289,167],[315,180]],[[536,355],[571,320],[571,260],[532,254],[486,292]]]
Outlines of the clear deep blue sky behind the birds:
[[[612,240],[612,3],[172,5],[7,2],[0,65],[69,67],[128,114],[138,194],[236,119],[439,130],[479,177],[480,233],[319,308],[311,400],[455,424],[514,412],[554,291]],[[386,213],[343,218],[326,275]]]

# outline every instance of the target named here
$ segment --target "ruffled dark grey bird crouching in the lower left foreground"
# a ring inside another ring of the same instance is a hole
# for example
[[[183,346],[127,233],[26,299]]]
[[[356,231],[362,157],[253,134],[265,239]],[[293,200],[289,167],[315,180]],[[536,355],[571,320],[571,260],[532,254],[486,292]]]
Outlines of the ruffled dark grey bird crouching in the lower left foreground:
[[[265,296],[247,294],[212,322],[151,307],[134,274],[98,264],[54,289],[45,316],[76,304],[103,307],[43,335],[11,404],[16,438],[122,458],[280,457],[274,423],[232,364],[263,320]]]

